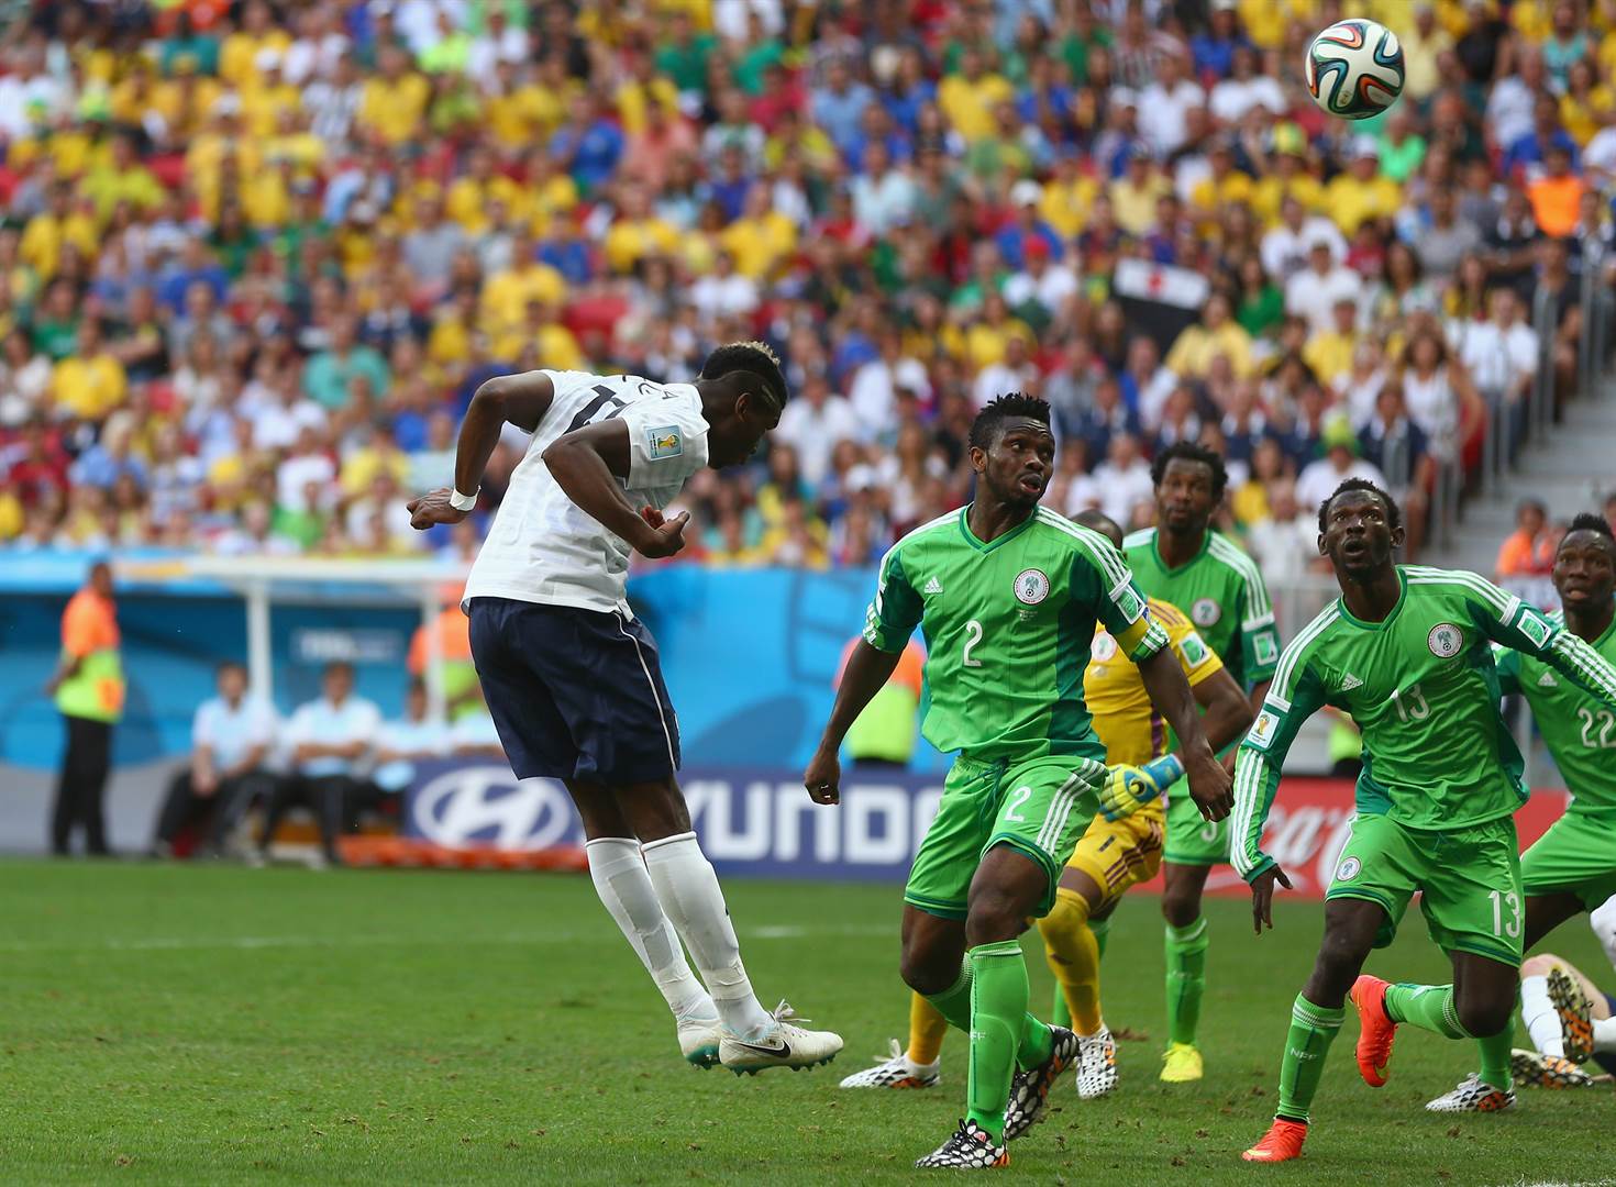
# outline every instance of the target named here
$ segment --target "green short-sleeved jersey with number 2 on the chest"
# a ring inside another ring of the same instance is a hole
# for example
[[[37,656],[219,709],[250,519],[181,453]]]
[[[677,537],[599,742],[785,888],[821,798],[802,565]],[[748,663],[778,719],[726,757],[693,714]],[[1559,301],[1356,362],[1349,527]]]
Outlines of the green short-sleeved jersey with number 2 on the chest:
[[[974,759],[1078,754],[1105,761],[1083,670],[1099,620],[1134,661],[1167,644],[1110,541],[1039,507],[984,544],[970,507],[908,533],[881,562],[865,640],[926,638],[931,706],[921,733]]]

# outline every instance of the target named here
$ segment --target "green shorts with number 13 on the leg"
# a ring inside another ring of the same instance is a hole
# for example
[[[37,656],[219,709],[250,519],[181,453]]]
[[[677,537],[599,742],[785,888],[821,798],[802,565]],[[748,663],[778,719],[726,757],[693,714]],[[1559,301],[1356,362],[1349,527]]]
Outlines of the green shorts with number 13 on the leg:
[[[1335,880],[1325,898],[1364,898],[1387,911],[1375,937],[1385,948],[1396,937],[1414,891],[1438,948],[1521,966],[1521,858],[1514,817],[1469,828],[1408,828],[1390,816],[1353,820]]]

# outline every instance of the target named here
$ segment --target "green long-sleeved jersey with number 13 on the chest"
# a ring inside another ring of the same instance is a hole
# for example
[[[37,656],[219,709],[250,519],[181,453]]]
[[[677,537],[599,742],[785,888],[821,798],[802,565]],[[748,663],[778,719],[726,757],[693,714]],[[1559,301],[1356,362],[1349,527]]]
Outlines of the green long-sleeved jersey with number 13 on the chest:
[[[1616,670],[1519,598],[1443,568],[1399,565],[1398,580],[1383,622],[1354,619],[1336,599],[1285,648],[1235,767],[1230,861],[1248,880],[1273,864],[1262,825],[1296,730],[1320,706],[1362,730],[1357,811],[1438,830],[1509,816],[1526,799],[1490,643],[1542,659],[1616,709]]]

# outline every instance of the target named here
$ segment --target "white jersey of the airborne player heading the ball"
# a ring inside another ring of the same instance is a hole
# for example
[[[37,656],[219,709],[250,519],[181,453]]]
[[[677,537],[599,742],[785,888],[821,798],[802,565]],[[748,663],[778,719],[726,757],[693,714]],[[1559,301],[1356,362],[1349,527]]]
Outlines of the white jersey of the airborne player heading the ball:
[[[567,497],[541,454],[564,433],[601,420],[622,420],[629,426],[624,491],[635,507],[661,510],[708,462],[701,397],[688,383],[661,384],[638,375],[545,375],[556,397],[511,473],[511,489],[465,581],[465,601],[509,598],[622,610],[632,617],[624,596],[627,541]]]

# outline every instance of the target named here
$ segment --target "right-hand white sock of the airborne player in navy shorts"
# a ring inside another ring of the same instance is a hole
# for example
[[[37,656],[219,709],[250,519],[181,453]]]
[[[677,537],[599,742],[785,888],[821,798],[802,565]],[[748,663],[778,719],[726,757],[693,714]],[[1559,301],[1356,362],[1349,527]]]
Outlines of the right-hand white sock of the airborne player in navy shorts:
[[[724,906],[713,862],[701,853],[695,833],[663,837],[640,846],[645,869],[656,887],[663,911],[690,946],[701,980],[724,1026],[740,1038],[753,1038],[772,1024],[772,1016],[758,1005],[740,964],[740,942]]]

